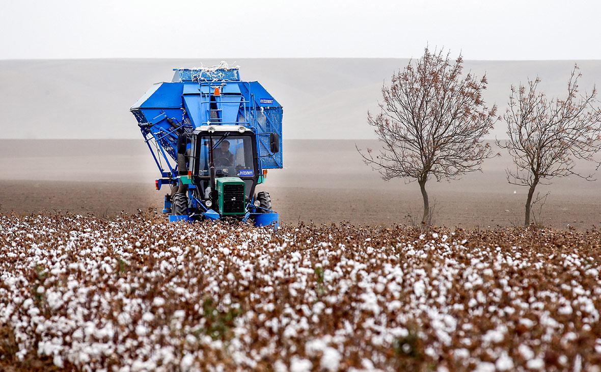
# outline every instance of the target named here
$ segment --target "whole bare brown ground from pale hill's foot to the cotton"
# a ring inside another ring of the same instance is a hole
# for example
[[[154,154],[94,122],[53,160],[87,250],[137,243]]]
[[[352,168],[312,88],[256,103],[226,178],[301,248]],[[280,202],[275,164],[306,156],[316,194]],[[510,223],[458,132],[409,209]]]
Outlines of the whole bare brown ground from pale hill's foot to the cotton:
[[[357,141],[359,148],[373,141]],[[355,141],[287,141],[284,169],[269,171],[261,189],[272,195],[284,222],[349,221],[362,225],[411,222],[421,216],[415,183],[384,182],[361,162]],[[525,188],[507,183],[507,157],[487,160],[483,172],[427,185],[435,223],[487,228],[523,221]],[[594,171],[591,165],[581,165]],[[154,190],[156,165],[142,141],[0,140],[0,212],[63,210],[94,215],[162,208]],[[558,228],[601,225],[599,182],[562,179],[550,192],[538,222]]]

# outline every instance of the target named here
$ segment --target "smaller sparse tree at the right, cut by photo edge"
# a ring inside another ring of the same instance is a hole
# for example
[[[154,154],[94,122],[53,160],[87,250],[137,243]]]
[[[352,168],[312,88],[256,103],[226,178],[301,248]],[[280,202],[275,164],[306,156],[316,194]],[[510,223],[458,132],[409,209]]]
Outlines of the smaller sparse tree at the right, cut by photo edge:
[[[518,186],[528,186],[524,225],[530,224],[532,195],[538,184],[549,184],[555,177],[576,175],[593,180],[593,174],[575,171],[575,159],[594,161],[600,149],[599,130],[601,111],[593,107],[597,90],[580,94],[575,66],[567,84],[566,99],[548,100],[538,93],[540,79],[528,85],[511,87],[509,108],[503,115],[507,122],[508,141],[496,143],[507,149],[513,157],[515,169],[507,169],[507,181]],[[597,165],[597,168],[599,166]]]

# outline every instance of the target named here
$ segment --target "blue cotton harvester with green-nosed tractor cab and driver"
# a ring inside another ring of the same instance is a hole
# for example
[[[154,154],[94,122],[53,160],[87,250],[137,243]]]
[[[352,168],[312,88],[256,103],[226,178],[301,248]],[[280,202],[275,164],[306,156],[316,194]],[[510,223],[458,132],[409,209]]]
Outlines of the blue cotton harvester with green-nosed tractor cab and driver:
[[[171,188],[163,213],[277,225],[269,193],[255,188],[282,168],[282,106],[227,64],[174,72],[130,109],[161,173],[156,189]]]

